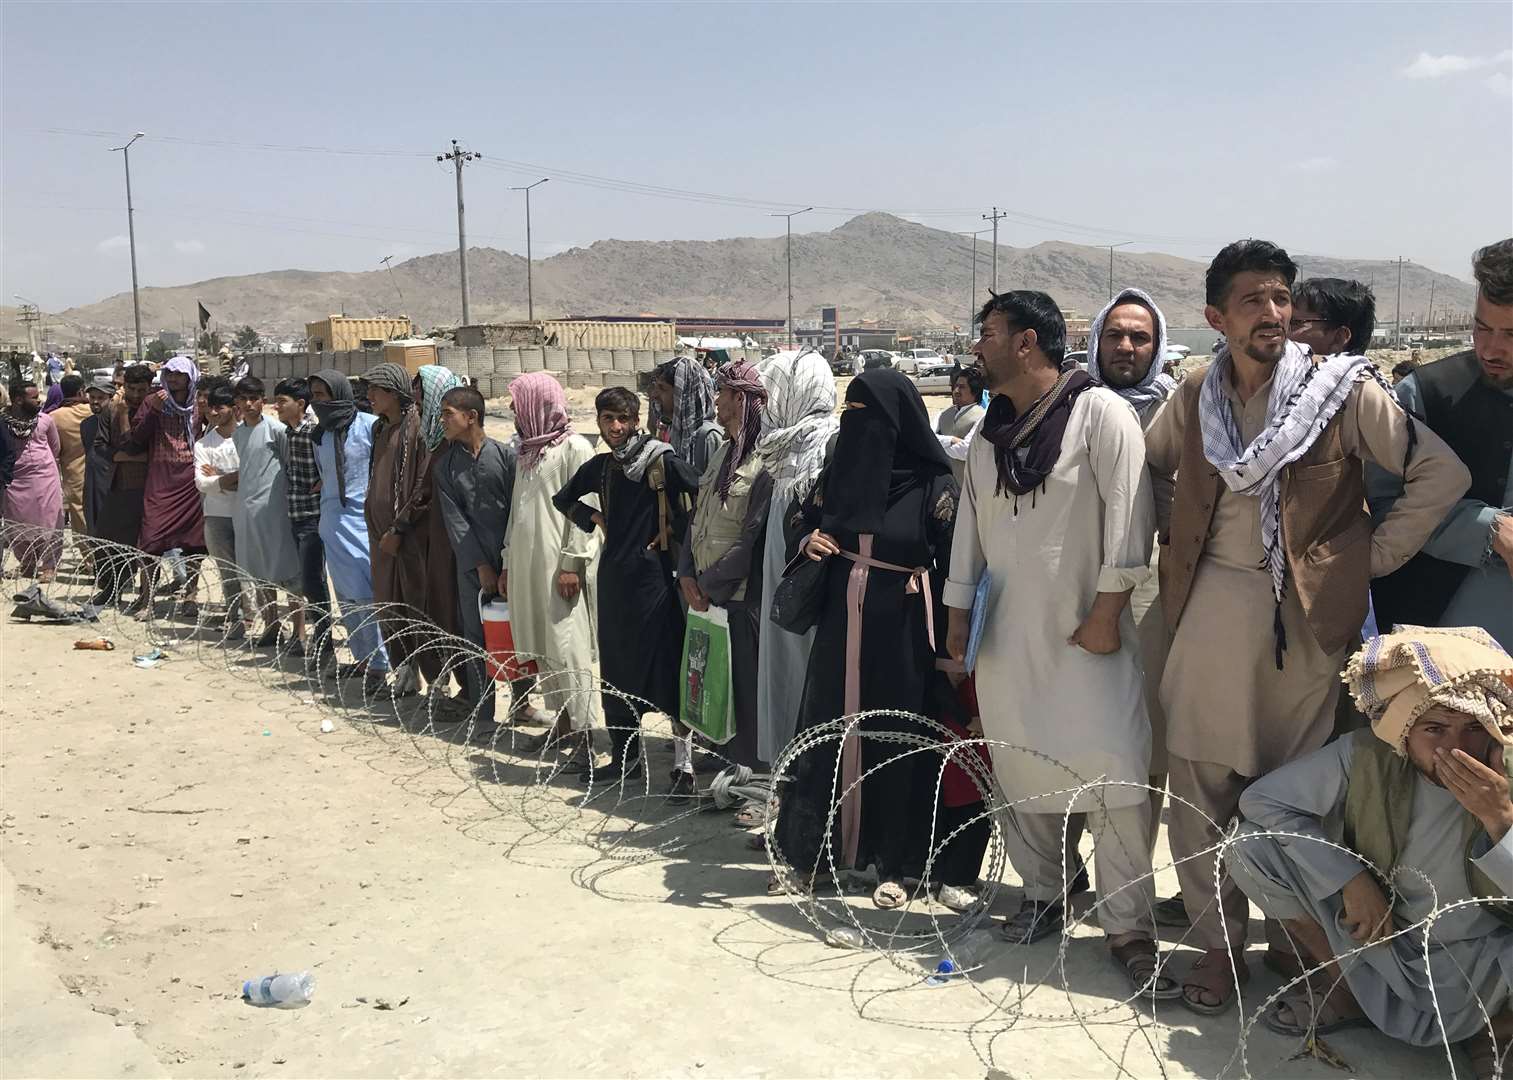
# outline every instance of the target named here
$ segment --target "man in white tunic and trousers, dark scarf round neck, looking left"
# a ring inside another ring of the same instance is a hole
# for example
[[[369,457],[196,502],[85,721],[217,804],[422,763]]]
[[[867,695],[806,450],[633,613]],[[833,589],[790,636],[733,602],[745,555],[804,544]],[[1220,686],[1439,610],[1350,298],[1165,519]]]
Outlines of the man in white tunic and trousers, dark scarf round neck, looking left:
[[[1003,936],[1029,944],[1062,927],[1070,812],[1094,835],[1098,921],[1117,962],[1139,994],[1170,998],[1180,988],[1160,974],[1154,944],[1150,722],[1129,611],[1154,537],[1145,449],[1129,404],[1080,369],[1061,371],[1065,333],[1041,292],[1000,293],[982,310],[976,352],[994,399],[952,540],[949,649],[965,656],[986,570],[977,700],[1024,882]]]

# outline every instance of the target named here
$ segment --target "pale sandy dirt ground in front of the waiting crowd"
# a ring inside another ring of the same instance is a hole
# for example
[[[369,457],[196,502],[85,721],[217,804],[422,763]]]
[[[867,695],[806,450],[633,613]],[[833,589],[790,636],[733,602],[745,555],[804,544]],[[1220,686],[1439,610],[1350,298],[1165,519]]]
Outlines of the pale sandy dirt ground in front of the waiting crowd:
[[[95,634],[117,649],[71,649]],[[996,944],[980,980],[927,986],[914,957],[822,944],[725,814],[586,805],[502,743],[333,709],[266,653],[157,638],[169,661],[135,667],[147,644],[127,620],[0,625],[5,1077],[1242,1075],[1241,1016],[1277,986],[1253,944],[1244,1013],[1151,1019],[1091,926],[1064,968],[1055,938]],[[953,917],[908,924],[932,918]],[[239,1000],[306,968],[306,1009]],[[1362,1075],[1445,1072],[1328,1044]],[[1256,1027],[1250,1074],[1339,1075],[1295,1048]]]

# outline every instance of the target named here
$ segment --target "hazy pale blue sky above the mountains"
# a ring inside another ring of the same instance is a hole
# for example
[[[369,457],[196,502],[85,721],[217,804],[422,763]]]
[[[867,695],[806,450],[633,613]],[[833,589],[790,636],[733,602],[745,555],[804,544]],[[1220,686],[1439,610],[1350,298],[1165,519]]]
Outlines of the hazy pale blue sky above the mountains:
[[[1513,233],[1513,5],[0,5],[3,292],[775,236],[885,209],[1468,277]],[[362,151],[362,153],[353,153]],[[613,183],[602,183],[608,178]],[[655,188],[661,195],[626,191]],[[664,189],[711,198],[667,197]]]

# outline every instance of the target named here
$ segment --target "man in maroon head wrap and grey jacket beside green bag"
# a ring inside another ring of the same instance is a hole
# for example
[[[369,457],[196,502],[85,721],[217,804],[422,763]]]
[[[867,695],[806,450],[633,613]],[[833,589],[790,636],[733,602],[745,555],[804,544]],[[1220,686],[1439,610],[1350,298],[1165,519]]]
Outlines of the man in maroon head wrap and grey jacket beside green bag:
[[[728,439],[699,478],[678,566],[682,599],[693,611],[725,608],[731,628],[731,697],[735,735],[719,749],[737,765],[761,767],[756,750],[756,656],[761,635],[761,570],[772,475],[756,452],[767,387],[744,360],[720,368],[714,414]],[[685,791],[684,791],[685,790]],[[673,793],[693,791],[693,764],[673,777]]]

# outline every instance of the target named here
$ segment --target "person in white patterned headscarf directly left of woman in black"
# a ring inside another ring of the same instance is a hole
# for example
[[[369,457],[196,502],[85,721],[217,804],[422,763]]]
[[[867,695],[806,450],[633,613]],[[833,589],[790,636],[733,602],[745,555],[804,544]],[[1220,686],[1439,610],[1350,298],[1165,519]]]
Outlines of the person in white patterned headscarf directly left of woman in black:
[[[772,517],[763,563],[761,640],[756,661],[756,756],[776,761],[799,725],[799,700],[814,631],[791,634],[772,622],[772,596],[788,561],[781,528],[788,504],[803,499],[825,466],[840,427],[835,377],[819,352],[778,354],[761,365],[767,411],[756,452],[772,475]]]

